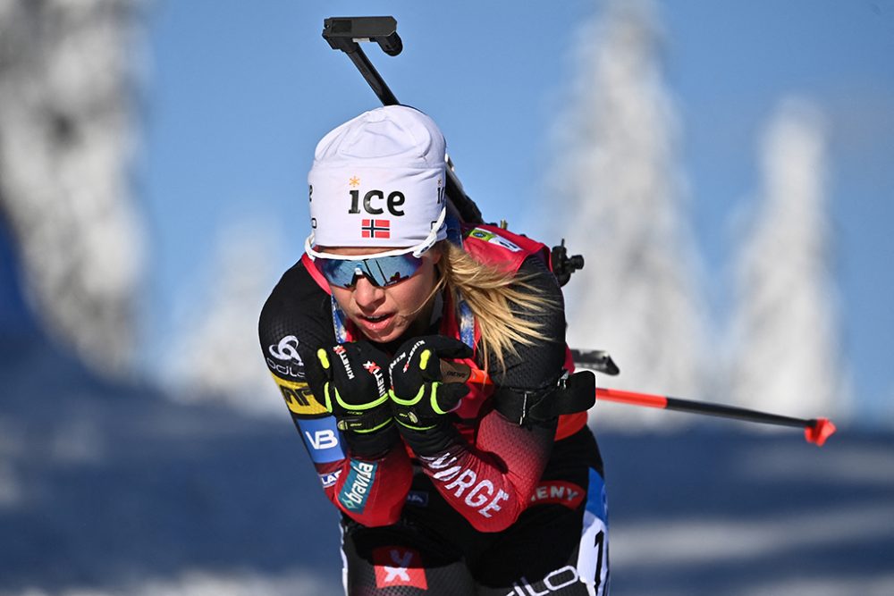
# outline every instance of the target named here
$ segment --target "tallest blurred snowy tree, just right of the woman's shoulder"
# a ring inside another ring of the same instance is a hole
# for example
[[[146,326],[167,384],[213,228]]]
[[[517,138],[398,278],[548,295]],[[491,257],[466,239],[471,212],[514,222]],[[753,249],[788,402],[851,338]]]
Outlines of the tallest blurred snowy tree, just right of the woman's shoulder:
[[[613,386],[697,396],[712,370],[707,317],[655,15],[651,3],[612,2],[583,29],[544,202],[564,214],[550,237],[586,259],[565,289],[569,344],[608,349],[621,369]],[[599,417],[655,416],[670,419],[630,407]]]

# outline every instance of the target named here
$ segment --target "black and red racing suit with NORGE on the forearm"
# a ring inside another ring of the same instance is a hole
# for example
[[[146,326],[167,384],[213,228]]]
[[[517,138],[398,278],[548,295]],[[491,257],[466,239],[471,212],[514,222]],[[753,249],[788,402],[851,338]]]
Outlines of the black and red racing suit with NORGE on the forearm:
[[[464,248],[526,274],[532,289],[523,291],[561,305],[543,245],[478,226],[466,231]],[[459,339],[457,309],[443,304],[429,332]],[[563,308],[518,315],[538,323],[542,335],[518,345],[491,376],[519,393],[546,390],[570,367]],[[419,593],[436,593],[435,583],[447,586],[443,593],[526,593],[526,586],[605,593],[603,469],[586,413],[519,425],[493,409],[493,388],[472,386],[450,415],[460,432],[443,452],[415,457],[401,443],[375,460],[352,457],[304,371],[302,354],[337,343],[332,299],[307,256],[267,299],[259,334],[326,496],[342,511],[350,593],[411,594],[423,584]],[[378,347],[391,353],[407,339]],[[480,367],[483,359],[477,353],[467,364]]]

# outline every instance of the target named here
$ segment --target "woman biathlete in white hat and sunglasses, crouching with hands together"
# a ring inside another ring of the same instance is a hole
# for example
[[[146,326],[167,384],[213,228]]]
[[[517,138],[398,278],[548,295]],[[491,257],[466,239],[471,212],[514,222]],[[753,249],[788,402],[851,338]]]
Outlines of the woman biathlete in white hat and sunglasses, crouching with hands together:
[[[544,245],[451,216],[401,105],[327,134],[261,348],[342,513],[348,594],[605,594],[603,464]]]

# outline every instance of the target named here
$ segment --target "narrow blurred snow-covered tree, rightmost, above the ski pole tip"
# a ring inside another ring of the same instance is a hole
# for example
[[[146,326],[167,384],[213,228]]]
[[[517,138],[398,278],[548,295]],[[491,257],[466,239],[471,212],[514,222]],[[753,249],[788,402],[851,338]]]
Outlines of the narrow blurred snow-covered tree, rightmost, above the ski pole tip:
[[[780,103],[761,147],[757,212],[738,256],[730,394],[792,416],[848,403],[831,275],[826,133],[804,99]]]

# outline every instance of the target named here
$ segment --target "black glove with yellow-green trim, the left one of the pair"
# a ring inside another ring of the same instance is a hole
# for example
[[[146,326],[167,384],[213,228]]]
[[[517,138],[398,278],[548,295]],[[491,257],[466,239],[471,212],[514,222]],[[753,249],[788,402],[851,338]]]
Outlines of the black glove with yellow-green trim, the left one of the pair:
[[[388,356],[365,341],[316,350],[326,410],[352,455],[378,457],[397,442],[389,404]]]

